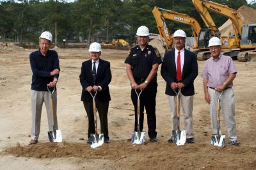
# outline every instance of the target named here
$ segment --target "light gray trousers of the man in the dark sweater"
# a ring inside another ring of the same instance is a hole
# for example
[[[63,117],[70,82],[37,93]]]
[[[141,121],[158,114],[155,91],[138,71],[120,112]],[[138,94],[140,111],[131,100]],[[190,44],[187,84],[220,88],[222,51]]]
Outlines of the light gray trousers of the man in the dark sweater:
[[[51,93],[49,91],[35,91],[31,89],[31,112],[32,112],[32,125],[31,125],[31,139],[38,140],[40,134],[42,106],[45,103],[49,131],[58,129],[57,121],[57,91],[52,94],[53,97],[53,111],[54,123],[52,122],[51,114]]]

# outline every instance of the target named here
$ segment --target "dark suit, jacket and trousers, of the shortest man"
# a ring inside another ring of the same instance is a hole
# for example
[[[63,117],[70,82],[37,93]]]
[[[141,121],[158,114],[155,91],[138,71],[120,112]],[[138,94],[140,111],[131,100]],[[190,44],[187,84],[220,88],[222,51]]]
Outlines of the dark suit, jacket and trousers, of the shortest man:
[[[96,73],[95,84],[93,84],[92,77],[92,59],[84,61],[82,63],[81,73],[80,73],[80,82],[83,87],[81,101],[84,103],[84,109],[86,110],[89,127],[88,127],[88,138],[90,134],[95,134],[95,127],[93,121],[93,103],[92,96],[86,88],[88,86],[100,86],[101,91],[98,91],[95,98],[97,111],[99,112],[100,117],[100,131],[104,134],[104,139],[109,139],[108,136],[108,106],[110,98],[108,84],[111,82],[111,70],[110,63],[99,59],[99,66]]]

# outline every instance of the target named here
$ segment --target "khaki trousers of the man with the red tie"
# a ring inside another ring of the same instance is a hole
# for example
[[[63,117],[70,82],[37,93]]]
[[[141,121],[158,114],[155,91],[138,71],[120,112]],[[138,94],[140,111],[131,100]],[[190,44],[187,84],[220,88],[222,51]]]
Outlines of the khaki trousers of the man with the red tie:
[[[172,130],[178,129],[178,117],[177,117],[177,108],[176,108],[176,101],[177,97],[167,95],[169,100],[170,112],[171,112],[171,125]],[[184,127],[186,130],[186,138],[193,138],[193,100],[194,96],[184,96],[180,93],[180,106],[182,108],[183,117],[184,117]],[[182,116],[180,116],[182,117]],[[181,120],[180,120],[181,121]],[[181,124],[181,123],[180,123]],[[180,127],[180,130],[183,129]]]

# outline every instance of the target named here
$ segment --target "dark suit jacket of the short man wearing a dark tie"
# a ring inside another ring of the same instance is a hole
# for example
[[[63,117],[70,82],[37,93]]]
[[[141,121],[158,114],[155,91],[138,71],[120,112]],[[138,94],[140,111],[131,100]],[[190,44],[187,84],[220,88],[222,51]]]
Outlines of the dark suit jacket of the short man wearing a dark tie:
[[[91,102],[92,96],[86,88],[88,86],[93,86],[92,79],[92,59],[88,61],[84,61],[82,63],[81,73],[80,73],[80,83],[83,87],[81,101],[83,102]],[[99,66],[96,74],[96,86],[100,86],[102,88],[101,91],[98,91],[96,98],[100,100],[100,102],[109,102],[111,100],[108,84],[111,82],[111,70],[110,63],[108,61],[104,61],[103,59],[99,59]]]

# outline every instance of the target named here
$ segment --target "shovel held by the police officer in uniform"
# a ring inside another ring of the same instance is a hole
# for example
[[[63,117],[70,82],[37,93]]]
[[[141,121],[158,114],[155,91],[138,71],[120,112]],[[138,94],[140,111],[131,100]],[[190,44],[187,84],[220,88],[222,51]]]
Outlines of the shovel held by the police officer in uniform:
[[[138,97],[138,100],[137,100],[137,116],[138,116],[138,123],[137,123],[137,126],[138,126],[138,132],[133,132],[132,133],[132,143],[133,144],[143,144],[145,143],[145,132],[140,132],[140,95],[142,93],[142,90],[140,91],[140,93],[137,93],[136,89],[134,90],[137,97]]]

